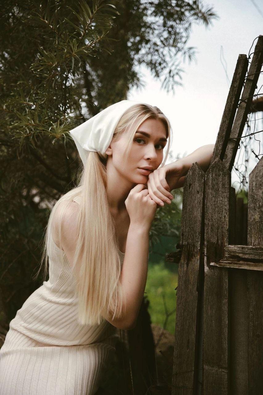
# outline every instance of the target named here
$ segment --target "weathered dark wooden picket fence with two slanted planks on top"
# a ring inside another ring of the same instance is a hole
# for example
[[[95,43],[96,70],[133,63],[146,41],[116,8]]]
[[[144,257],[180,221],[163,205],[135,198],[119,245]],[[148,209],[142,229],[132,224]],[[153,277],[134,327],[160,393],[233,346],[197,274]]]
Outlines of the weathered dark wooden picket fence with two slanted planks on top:
[[[263,394],[263,158],[247,205],[231,188],[262,62],[259,36],[249,70],[237,60],[209,169],[186,176],[179,251],[167,256],[179,261],[172,395]]]

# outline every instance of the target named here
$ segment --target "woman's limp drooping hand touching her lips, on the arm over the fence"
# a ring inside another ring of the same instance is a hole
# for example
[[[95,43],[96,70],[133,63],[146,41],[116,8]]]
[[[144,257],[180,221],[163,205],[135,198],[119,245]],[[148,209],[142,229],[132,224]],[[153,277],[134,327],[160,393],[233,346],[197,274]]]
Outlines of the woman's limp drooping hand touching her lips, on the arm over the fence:
[[[171,190],[184,185],[184,165],[180,160],[154,170],[148,176],[147,187],[150,198],[159,205],[171,203]]]

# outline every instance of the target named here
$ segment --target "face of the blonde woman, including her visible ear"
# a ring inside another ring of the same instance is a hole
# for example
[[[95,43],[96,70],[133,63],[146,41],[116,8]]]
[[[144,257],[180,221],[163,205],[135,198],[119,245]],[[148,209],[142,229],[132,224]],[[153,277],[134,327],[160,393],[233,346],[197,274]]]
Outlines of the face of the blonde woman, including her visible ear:
[[[158,119],[146,119],[137,129],[131,145],[130,154],[125,162],[123,160],[124,147],[128,141],[129,130],[111,143],[106,150],[108,164],[114,166],[133,184],[145,184],[150,171],[141,170],[142,167],[150,167],[156,170],[163,160],[163,149],[167,143],[166,130],[162,121]]]

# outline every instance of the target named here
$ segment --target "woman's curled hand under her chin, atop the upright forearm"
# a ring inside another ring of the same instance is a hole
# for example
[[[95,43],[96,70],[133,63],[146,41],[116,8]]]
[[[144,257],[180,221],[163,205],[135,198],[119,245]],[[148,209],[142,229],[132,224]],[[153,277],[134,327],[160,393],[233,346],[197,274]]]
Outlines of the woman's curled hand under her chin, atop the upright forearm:
[[[137,184],[130,190],[125,205],[130,216],[130,224],[150,229],[158,205],[150,198],[144,184]]]

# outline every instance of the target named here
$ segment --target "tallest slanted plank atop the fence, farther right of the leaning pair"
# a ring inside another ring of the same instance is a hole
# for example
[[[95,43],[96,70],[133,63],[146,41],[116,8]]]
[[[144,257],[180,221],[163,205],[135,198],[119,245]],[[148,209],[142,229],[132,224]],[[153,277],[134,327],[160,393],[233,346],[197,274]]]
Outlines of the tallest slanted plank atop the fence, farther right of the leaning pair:
[[[255,51],[252,57],[250,68],[248,70],[248,78],[246,78],[239,107],[237,108],[237,113],[229,136],[233,140],[228,140],[223,159],[223,163],[230,172],[232,170],[235,156],[237,154],[237,149],[239,147],[238,137],[242,136],[248,112],[250,111],[250,106],[257,85],[259,73],[261,71],[262,62],[263,36],[259,36],[259,38],[257,39],[257,44],[255,45]]]

